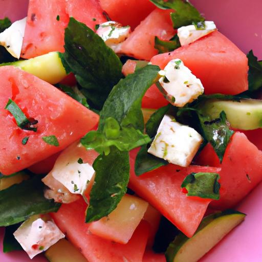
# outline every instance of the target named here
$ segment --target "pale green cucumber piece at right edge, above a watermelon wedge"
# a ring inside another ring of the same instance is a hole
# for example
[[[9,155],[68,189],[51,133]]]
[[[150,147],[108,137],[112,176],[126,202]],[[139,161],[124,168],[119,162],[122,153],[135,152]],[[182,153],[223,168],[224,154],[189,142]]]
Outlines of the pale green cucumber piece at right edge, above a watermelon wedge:
[[[225,111],[231,127],[252,130],[262,127],[262,100],[209,100],[199,107],[204,115],[218,118]]]

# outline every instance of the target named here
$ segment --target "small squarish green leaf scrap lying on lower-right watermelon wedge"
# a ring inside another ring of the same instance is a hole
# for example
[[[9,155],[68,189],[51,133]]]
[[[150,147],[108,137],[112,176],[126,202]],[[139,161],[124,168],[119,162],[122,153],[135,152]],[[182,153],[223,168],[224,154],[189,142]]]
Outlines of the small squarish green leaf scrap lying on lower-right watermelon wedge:
[[[219,200],[219,179],[217,173],[191,173],[184,179],[181,188],[187,189],[187,196]]]

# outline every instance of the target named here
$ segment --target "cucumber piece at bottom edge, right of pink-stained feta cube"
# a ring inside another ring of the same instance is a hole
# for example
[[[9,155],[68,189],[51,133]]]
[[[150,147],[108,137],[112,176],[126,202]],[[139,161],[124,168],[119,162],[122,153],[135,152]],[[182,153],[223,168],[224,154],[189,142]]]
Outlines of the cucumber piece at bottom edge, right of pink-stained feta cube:
[[[87,262],[80,251],[75,248],[67,239],[59,240],[50,247],[45,256],[50,262]]]

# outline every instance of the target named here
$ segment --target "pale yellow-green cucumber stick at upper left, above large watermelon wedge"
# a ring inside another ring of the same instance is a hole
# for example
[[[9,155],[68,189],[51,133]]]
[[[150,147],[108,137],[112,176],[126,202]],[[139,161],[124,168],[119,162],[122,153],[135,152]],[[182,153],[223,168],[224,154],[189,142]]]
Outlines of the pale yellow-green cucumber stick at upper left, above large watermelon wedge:
[[[0,64],[0,66],[3,65],[19,67],[21,70],[35,75],[51,84],[56,84],[67,76],[58,52],[50,52],[28,60]]]

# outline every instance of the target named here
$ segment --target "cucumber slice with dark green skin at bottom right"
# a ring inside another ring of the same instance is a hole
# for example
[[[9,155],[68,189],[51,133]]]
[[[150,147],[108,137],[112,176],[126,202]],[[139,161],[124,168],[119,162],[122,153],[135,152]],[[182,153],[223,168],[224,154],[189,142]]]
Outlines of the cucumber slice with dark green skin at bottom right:
[[[240,224],[245,216],[243,213],[227,210],[205,217],[191,238],[181,232],[170,243],[165,254],[167,262],[197,262]]]

